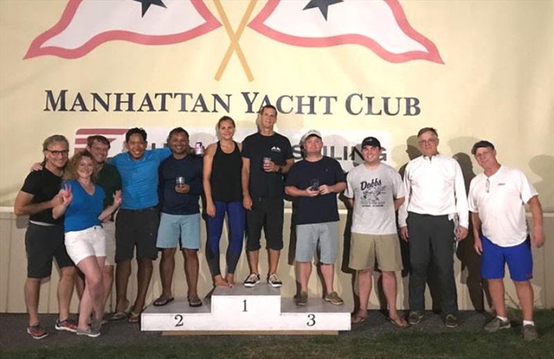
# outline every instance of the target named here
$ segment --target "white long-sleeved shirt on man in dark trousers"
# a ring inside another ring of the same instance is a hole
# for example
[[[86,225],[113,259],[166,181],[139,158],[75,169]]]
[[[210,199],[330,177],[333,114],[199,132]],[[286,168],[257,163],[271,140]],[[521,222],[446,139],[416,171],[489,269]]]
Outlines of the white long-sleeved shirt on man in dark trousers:
[[[469,225],[469,210],[460,165],[449,156],[436,154],[411,160],[404,173],[406,201],[398,210],[398,225],[404,227],[408,212],[454,217],[459,225]]]

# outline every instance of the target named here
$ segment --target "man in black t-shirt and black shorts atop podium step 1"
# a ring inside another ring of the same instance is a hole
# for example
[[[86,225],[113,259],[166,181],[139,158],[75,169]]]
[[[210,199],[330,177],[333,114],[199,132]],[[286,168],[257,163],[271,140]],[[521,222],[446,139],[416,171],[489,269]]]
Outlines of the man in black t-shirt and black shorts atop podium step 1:
[[[264,228],[269,257],[267,282],[278,288],[280,250],[283,248],[283,174],[294,163],[290,141],[274,131],[277,110],[270,104],[258,116],[258,132],[242,142],[242,204],[247,209],[247,254],[250,275],[244,286],[260,282],[258,256]]]

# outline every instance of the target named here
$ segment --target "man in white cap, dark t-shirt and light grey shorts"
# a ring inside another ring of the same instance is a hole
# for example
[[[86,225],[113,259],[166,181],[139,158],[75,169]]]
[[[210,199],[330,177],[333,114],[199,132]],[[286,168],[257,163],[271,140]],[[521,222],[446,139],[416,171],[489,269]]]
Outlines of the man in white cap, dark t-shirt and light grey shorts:
[[[302,138],[304,160],[289,172],[285,192],[295,197],[296,264],[300,293],[296,304],[307,304],[307,282],[312,273],[312,259],[319,248],[321,274],[325,282],[325,301],[343,304],[333,290],[334,261],[339,246],[339,210],[337,194],[346,188],[341,165],[334,158],[323,156],[323,141],[319,131],[310,130]]]

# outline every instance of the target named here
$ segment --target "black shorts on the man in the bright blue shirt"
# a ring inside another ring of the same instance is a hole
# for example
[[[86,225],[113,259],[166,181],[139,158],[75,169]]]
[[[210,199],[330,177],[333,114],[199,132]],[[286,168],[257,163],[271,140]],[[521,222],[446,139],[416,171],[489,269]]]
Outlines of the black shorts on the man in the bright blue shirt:
[[[137,259],[156,259],[159,223],[157,207],[119,210],[116,218],[116,263],[132,259],[135,246]]]

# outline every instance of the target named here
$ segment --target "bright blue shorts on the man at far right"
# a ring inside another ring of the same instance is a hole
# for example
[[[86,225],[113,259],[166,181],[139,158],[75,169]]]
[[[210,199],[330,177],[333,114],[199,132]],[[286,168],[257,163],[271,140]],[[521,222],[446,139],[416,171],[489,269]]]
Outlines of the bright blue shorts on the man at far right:
[[[517,246],[501,247],[481,236],[483,242],[483,259],[481,277],[484,279],[501,279],[504,277],[504,266],[508,264],[510,278],[515,282],[526,282],[533,278],[533,255],[529,237]]]

